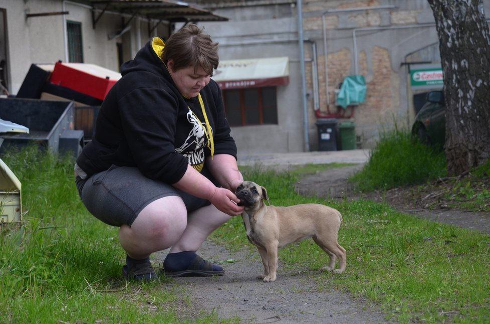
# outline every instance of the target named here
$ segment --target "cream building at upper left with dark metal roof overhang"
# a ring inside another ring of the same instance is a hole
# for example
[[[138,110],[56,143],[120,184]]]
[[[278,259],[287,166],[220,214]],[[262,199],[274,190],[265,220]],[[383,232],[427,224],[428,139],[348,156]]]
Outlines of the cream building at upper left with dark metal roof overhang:
[[[32,63],[119,66],[175,22],[226,21],[180,1],[0,0],[0,80],[13,94]]]

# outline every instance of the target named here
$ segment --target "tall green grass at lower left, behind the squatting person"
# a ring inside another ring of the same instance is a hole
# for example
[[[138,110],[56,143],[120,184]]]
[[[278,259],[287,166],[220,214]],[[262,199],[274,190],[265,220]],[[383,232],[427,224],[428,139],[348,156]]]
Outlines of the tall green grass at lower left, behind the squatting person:
[[[19,230],[0,232],[0,322],[185,320],[182,291],[123,280],[117,228],[83,206],[70,156],[28,147],[2,159],[22,182],[25,215]],[[212,312],[192,321],[218,319]]]

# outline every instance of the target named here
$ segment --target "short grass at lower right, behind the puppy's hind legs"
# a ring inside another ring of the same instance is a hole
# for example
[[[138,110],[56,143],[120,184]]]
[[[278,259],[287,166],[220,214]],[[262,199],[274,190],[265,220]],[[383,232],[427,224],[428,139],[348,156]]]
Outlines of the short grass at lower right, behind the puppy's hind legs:
[[[488,235],[369,201],[339,210],[349,271],[325,277],[369,297],[399,322],[488,321]]]

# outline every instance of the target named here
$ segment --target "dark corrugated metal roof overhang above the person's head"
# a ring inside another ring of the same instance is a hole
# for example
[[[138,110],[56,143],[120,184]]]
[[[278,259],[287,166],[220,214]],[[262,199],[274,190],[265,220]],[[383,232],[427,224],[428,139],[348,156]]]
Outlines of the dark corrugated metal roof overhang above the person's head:
[[[94,15],[94,27],[105,11],[115,11],[130,16],[169,22],[228,21],[228,18],[212,13],[201,6],[173,0],[89,0],[99,10]]]

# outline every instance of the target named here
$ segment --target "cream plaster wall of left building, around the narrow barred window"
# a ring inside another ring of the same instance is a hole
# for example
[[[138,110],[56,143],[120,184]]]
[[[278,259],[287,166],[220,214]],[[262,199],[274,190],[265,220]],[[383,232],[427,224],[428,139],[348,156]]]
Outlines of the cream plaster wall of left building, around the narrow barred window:
[[[106,11],[94,29],[91,7],[74,1],[0,0],[0,8],[6,9],[8,81],[12,94],[18,92],[32,63],[54,64],[58,60],[67,61],[66,20],[82,24],[84,63],[97,64],[114,71],[119,71],[118,41],[123,42],[123,61],[126,61],[133,58],[150,39],[148,22],[141,18],[131,20],[131,29],[122,36],[109,39],[108,35],[121,30],[121,15]],[[26,13],[60,11],[69,11],[69,14],[26,18]],[[96,16],[99,12],[96,11]],[[125,19],[129,20],[129,16]],[[155,33],[166,29],[166,24],[162,23]]]

